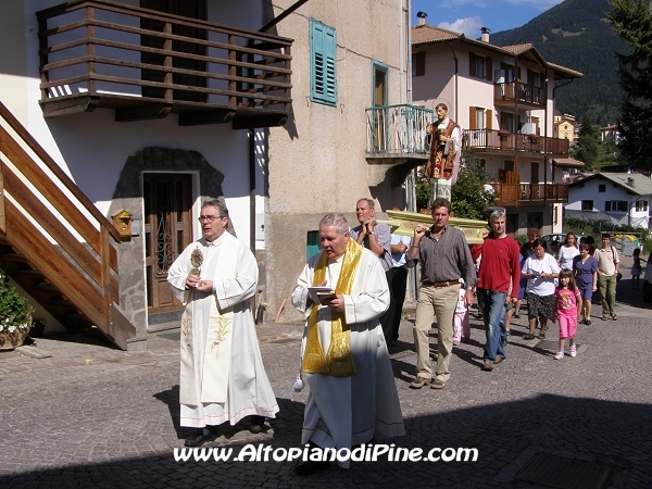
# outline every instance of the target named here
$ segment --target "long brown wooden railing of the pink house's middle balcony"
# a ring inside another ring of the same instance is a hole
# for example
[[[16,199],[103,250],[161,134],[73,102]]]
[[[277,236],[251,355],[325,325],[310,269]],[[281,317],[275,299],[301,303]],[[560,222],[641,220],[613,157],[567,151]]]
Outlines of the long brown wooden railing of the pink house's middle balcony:
[[[478,151],[498,150],[551,154],[568,158],[568,140],[497,129],[467,129],[464,143]]]

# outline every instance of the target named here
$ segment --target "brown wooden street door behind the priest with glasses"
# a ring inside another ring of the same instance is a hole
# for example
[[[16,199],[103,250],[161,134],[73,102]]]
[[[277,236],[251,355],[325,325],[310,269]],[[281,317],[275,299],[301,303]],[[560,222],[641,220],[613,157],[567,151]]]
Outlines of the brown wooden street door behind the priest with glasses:
[[[181,309],[172,296],[167,271],[192,241],[191,191],[191,175],[143,175],[145,264],[150,315]]]

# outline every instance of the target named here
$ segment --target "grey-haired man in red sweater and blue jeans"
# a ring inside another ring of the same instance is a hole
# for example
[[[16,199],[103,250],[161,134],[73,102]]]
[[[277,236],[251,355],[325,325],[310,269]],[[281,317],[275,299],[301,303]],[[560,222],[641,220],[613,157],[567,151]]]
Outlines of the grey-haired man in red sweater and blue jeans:
[[[481,244],[474,244],[471,249],[474,260],[480,254],[480,269],[478,271],[477,294],[478,303],[485,319],[484,371],[492,371],[505,359],[505,350],[501,343],[501,335],[506,335],[504,329],[505,301],[515,303],[518,300],[518,283],[521,280],[521,248],[518,243],[505,233],[505,212],[493,211],[489,217],[492,231]],[[511,297],[507,291],[512,286]]]

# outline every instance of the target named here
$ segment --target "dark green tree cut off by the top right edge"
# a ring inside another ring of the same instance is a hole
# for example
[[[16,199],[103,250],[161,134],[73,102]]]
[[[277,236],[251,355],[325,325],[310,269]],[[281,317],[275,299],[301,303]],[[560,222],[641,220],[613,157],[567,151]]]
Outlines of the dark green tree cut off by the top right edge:
[[[612,0],[614,32],[631,48],[617,53],[620,86],[619,150],[629,164],[652,168],[652,7],[643,0]]]

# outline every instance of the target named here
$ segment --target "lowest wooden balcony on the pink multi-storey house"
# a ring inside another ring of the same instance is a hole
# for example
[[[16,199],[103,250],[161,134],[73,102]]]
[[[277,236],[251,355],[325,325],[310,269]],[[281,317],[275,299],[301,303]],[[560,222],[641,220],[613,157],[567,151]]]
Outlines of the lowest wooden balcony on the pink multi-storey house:
[[[566,184],[522,184],[513,172],[500,171],[500,183],[491,184],[497,193],[496,205],[543,205],[568,202]]]

